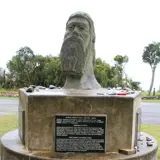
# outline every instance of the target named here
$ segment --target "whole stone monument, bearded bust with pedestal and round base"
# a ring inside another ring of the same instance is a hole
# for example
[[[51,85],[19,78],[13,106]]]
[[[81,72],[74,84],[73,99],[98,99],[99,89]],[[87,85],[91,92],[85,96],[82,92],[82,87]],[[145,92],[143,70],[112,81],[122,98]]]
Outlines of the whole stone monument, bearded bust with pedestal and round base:
[[[62,89],[19,90],[18,130],[1,139],[1,160],[157,160],[140,132],[141,95],[110,95],[95,76],[95,30],[86,13],[69,17],[61,48]]]

